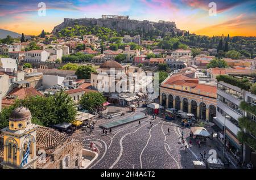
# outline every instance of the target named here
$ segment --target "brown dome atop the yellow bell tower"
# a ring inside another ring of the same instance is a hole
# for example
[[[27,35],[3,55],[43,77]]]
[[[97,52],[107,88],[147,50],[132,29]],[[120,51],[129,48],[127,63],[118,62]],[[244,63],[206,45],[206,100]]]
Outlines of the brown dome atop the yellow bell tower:
[[[10,115],[10,121],[23,121],[28,118],[31,118],[31,113],[28,108],[20,107],[15,108]]]

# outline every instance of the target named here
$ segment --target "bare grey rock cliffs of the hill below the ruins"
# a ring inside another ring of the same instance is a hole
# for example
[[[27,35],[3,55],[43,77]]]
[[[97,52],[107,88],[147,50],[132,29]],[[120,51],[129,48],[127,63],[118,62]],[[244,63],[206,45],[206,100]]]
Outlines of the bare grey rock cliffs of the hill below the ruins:
[[[180,29],[176,28],[174,22],[149,22],[148,20],[118,20],[118,19],[94,19],[94,18],[82,18],[82,19],[68,19],[65,18],[64,22],[57,25],[52,33],[58,32],[65,27],[73,27],[74,25],[84,26],[98,26],[115,29],[117,32],[121,31],[139,31],[142,33],[159,32],[159,35],[165,33],[177,33]]]

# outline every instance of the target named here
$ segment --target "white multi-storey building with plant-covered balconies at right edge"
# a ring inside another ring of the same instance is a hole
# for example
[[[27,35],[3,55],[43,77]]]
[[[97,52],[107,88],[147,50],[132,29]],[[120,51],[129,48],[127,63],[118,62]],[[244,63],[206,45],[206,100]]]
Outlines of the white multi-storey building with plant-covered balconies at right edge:
[[[225,126],[225,145],[229,152],[236,158],[242,158],[244,164],[251,161],[255,166],[255,147],[250,143],[256,142],[256,135],[247,131],[241,125],[251,123],[252,127],[255,127],[253,124],[256,125],[256,116],[251,112],[246,112],[241,104],[255,108],[256,96],[245,89],[241,89],[241,87],[229,84],[226,80],[224,81],[220,80],[217,85],[217,113],[216,117],[214,117],[214,122],[222,129],[220,133],[222,137],[224,137]],[[240,141],[241,133],[243,137],[249,136],[249,144]]]

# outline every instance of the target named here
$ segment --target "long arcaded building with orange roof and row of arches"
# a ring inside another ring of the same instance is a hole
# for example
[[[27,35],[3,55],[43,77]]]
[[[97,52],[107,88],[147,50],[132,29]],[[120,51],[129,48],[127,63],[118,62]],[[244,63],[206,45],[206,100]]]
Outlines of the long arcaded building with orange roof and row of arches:
[[[217,87],[199,83],[199,79],[185,74],[168,77],[160,85],[160,104],[193,113],[198,119],[213,121],[216,117]]]

